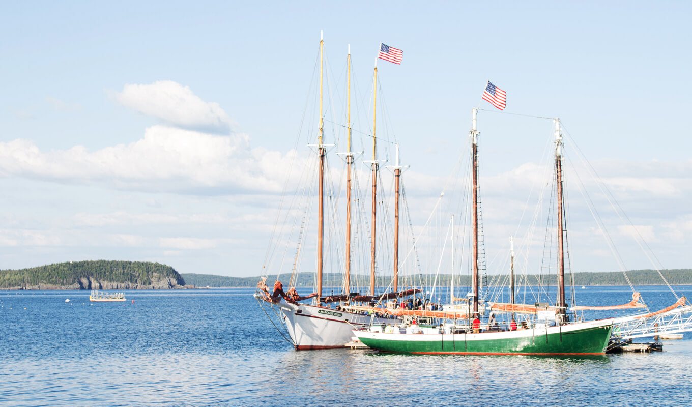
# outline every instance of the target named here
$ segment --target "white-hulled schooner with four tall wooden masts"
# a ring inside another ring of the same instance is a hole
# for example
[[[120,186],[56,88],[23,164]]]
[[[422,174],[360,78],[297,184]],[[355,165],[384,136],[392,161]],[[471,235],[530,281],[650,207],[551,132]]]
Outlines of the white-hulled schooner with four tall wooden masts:
[[[324,143],[324,124],[325,118],[322,110],[322,78],[324,65],[324,41],[320,37],[320,84],[319,84],[319,125],[318,125],[318,226],[317,226],[317,248],[316,248],[316,292],[309,296],[298,296],[295,287],[291,287],[287,292],[283,291],[283,284],[278,280],[275,282],[273,292],[270,292],[266,285],[266,278],[258,284],[255,298],[262,307],[268,305],[276,316],[279,316],[286,327],[293,346],[297,350],[318,350],[335,347],[346,347],[352,340],[352,330],[354,328],[365,327],[371,323],[386,324],[392,323],[399,317],[391,315],[373,315],[363,311],[359,305],[369,305],[386,300],[401,300],[413,293],[420,292],[420,289],[408,289],[398,291],[398,247],[399,247],[399,182],[401,178],[401,167],[399,166],[398,145],[397,145],[397,165],[394,167],[395,179],[395,203],[394,203],[394,282],[392,291],[388,293],[377,293],[376,285],[376,225],[377,225],[377,179],[379,163],[376,159],[376,137],[375,137],[375,114],[376,114],[376,86],[377,86],[377,67],[374,69],[374,91],[373,91],[373,123],[372,123],[372,222],[370,224],[370,283],[367,295],[352,292],[352,174],[354,173],[354,153],[352,152],[351,132],[351,53],[347,55],[347,152],[346,159],[346,226],[345,226],[345,269],[343,273],[342,293],[323,295],[323,276],[325,267],[325,155],[326,147]],[[360,235],[363,239],[363,233]],[[334,239],[331,239],[332,244]],[[300,253],[300,246],[296,252],[296,257]],[[295,275],[295,263],[293,275]],[[291,285],[291,284],[289,284]],[[282,299],[284,301],[282,301]],[[302,303],[303,300],[311,299],[311,304]],[[268,314],[268,313],[267,313]],[[268,314],[269,315],[269,314]]]

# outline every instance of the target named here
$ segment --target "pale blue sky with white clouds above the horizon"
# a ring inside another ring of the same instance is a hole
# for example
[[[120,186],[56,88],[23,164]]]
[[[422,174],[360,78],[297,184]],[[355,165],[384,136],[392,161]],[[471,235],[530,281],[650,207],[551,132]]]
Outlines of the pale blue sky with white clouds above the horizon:
[[[491,80],[507,91],[505,112],[561,117],[659,266],[692,266],[690,8],[684,1],[3,3],[0,269],[118,259],[183,273],[262,273],[291,150],[307,150],[306,136],[296,138],[316,127],[302,120],[320,30],[335,95],[343,93],[351,45],[361,134],[372,120],[377,47],[403,49],[401,66],[378,64],[386,101],[378,134],[399,141],[411,165],[414,228],[466,143],[471,109],[493,109],[480,103]],[[341,103],[333,121],[343,117]],[[479,127],[486,246],[500,253],[507,235],[521,230],[515,206],[530,190],[508,180],[531,178],[522,171],[541,161],[551,123],[481,111]],[[354,143],[361,151],[370,141],[359,135]],[[381,154],[391,158],[388,148]],[[619,269],[601,257],[602,244],[589,246],[588,211],[573,209],[580,271]],[[627,237],[628,228],[614,224],[611,235]],[[622,245],[626,268],[652,266],[638,244]]]

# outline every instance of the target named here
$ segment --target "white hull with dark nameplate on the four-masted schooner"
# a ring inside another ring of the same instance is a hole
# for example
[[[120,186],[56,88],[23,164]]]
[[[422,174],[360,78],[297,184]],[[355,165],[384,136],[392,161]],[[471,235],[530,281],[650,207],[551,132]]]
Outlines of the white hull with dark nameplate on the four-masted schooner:
[[[371,324],[392,324],[397,321],[315,305],[281,303],[280,307],[284,323],[297,350],[346,347],[354,336],[353,329]]]

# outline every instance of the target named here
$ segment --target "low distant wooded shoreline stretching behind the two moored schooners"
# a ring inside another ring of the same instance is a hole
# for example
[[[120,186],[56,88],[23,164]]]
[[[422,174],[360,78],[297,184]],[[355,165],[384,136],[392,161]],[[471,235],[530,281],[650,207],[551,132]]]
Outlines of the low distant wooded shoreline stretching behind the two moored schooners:
[[[661,273],[664,275],[669,283],[674,285],[690,285],[692,284],[692,269],[671,269],[662,270]],[[188,284],[194,284],[196,287],[256,287],[257,282],[260,281],[260,277],[224,277],[222,275],[212,275],[212,274],[194,274],[194,273],[183,273],[181,274]],[[271,287],[275,276],[270,276],[267,280],[267,284]],[[367,276],[359,276],[361,280],[367,281]],[[495,275],[489,276],[492,280],[497,280],[501,282],[509,281],[509,275]],[[538,279],[543,285],[554,285],[556,284],[556,275],[529,275],[528,281],[531,285],[537,285]],[[625,275],[619,271],[617,272],[582,272],[574,273],[572,275],[574,279],[574,285],[628,285]],[[627,278],[630,279],[633,285],[660,285],[664,284],[660,275],[655,270],[631,270],[627,272]],[[290,279],[289,275],[284,275],[280,280],[284,284],[288,284]],[[340,281],[341,277],[337,274],[326,274],[323,278],[325,282]],[[420,275],[421,281],[430,282],[435,280],[435,275],[424,274]],[[270,281],[271,280],[271,281]],[[298,281],[295,283],[298,287],[311,287],[313,285],[314,274],[313,273],[300,273],[298,276]],[[355,280],[355,279],[354,279]],[[570,275],[565,276],[567,284],[570,284]],[[517,277],[516,281],[519,282],[520,279]],[[522,280],[523,281],[523,280]],[[437,276],[437,285],[445,286],[450,283],[450,275],[442,274]],[[471,277],[468,275],[457,276],[455,278],[455,284],[457,285],[471,285]]]

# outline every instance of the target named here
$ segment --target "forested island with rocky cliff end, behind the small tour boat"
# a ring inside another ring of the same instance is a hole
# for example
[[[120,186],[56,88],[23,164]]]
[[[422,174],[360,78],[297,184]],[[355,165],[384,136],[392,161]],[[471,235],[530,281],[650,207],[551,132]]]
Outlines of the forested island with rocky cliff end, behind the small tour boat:
[[[152,262],[88,260],[0,270],[4,290],[180,289],[185,280],[171,266]]]

